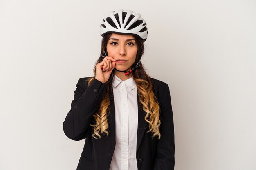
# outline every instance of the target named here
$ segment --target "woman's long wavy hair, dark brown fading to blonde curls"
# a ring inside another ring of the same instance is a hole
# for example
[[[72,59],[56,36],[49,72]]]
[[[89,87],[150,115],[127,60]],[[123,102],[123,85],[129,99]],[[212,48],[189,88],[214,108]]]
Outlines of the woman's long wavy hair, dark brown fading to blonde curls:
[[[101,51],[106,51],[106,44],[111,34],[103,37],[101,41]],[[139,61],[141,56],[144,53],[144,44],[139,37],[135,37],[136,43],[138,45],[138,52],[135,59],[135,64]],[[100,57],[94,66],[94,75],[96,75],[96,65],[103,61],[103,58]],[[148,122],[149,130],[146,133],[152,132],[152,137],[157,136],[158,139],[161,137],[159,132],[160,128],[160,106],[153,92],[153,83],[150,79],[150,76],[146,73],[143,68],[143,64],[140,63],[140,67],[132,71],[133,80],[137,85],[137,93],[139,95],[139,102],[142,104],[142,109],[146,112],[144,120]],[[94,80],[94,77],[88,78],[88,86]],[[114,78],[114,70],[110,74],[110,78],[105,83],[107,85],[107,91],[104,94],[103,100],[101,101],[99,108],[96,113],[93,114],[95,119],[95,124],[90,124],[94,129],[92,137],[95,139],[101,139],[101,134],[108,135],[108,114],[110,113],[110,92],[112,91],[112,81]]]

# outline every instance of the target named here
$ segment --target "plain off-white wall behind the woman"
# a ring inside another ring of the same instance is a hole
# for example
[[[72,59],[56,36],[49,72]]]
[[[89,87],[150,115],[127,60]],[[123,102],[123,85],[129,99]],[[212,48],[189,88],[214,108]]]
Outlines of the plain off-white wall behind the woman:
[[[170,87],[175,170],[256,170],[255,0],[0,0],[0,169],[76,169],[85,140],[63,121],[118,9],[148,23],[141,61]]]

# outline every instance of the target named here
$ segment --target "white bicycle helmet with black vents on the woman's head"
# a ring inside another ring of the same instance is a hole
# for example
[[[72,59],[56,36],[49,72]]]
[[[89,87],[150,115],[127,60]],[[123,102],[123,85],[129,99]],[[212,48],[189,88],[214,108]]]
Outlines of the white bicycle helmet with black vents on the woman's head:
[[[146,41],[148,37],[148,28],[146,21],[141,18],[139,13],[130,10],[112,11],[103,19],[100,26],[100,35],[104,36],[108,33],[124,33],[138,35]]]

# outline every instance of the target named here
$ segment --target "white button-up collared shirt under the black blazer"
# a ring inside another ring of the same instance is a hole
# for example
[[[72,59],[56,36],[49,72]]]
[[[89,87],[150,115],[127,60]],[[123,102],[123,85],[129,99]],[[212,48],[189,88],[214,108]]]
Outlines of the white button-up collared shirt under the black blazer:
[[[110,170],[137,170],[136,145],[138,129],[137,87],[133,77],[113,79],[116,146]]]

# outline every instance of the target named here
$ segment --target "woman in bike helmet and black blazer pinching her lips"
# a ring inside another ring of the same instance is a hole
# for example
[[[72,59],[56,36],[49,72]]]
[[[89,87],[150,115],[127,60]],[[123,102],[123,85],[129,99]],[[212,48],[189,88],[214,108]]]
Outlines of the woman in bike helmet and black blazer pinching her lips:
[[[67,137],[86,138],[77,170],[173,170],[169,87],[140,62],[146,22],[133,11],[113,11],[100,34],[95,76],[79,78],[63,122]]]

